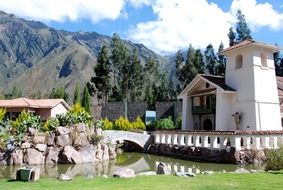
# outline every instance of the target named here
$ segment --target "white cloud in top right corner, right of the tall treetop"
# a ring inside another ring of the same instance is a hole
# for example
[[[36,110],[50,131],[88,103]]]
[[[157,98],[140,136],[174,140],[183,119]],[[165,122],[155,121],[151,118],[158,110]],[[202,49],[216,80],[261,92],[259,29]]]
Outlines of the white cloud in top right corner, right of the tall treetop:
[[[256,0],[234,0],[231,11],[241,9],[252,30],[269,27],[271,30],[283,29],[283,13],[276,11],[269,3],[257,3]]]

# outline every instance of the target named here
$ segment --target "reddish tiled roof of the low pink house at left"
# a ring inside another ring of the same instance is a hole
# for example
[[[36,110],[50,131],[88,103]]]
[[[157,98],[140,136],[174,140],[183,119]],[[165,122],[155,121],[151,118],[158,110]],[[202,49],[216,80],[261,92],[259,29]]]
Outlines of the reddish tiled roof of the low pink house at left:
[[[58,104],[62,103],[66,109],[70,109],[70,106],[63,99],[28,99],[28,98],[16,98],[12,100],[0,100],[0,107],[4,108],[54,108]]]

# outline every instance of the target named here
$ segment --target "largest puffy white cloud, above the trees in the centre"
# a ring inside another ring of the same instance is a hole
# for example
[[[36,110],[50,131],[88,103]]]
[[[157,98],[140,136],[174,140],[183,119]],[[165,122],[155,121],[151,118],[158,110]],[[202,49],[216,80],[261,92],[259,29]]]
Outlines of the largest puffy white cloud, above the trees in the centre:
[[[227,33],[234,18],[206,0],[156,0],[152,5],[157,20],[139,23],[128,37],[159,53],[187,48],[205,48],[212,43],[228,44]]]

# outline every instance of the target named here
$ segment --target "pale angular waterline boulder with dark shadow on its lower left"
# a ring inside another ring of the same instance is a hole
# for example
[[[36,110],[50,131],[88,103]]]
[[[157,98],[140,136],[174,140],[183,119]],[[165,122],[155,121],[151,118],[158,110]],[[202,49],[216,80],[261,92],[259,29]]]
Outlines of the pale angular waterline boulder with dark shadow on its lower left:
[[[62,152],[62,162],[66,164],[80,164],[82,163],[82,157],[74,147],[66,146]]]

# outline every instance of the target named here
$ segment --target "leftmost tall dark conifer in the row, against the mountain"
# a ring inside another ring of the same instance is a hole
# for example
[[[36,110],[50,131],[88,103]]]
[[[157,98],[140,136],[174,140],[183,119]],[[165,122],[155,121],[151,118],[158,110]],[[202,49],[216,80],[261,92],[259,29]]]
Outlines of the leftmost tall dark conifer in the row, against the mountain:
[[[108,49],[103,46],[97,57],[97,65],[94,67],[95,76],[91,77],[87,84],[90,94],[97,95],[98,99],[102,99],[103,103],[108,101],[111,90],[111,63],[108,55]]]

